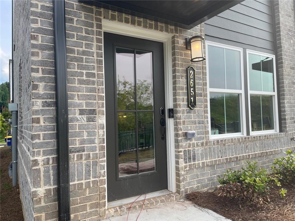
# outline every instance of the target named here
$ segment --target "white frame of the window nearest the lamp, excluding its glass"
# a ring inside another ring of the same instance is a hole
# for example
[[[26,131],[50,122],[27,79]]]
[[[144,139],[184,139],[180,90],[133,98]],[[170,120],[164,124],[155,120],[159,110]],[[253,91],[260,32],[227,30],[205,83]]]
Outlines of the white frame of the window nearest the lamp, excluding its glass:
[[[216,42],[206,41],[206,52],[208,58],[208,45],[222,47],[225,49],[236,50],[240,52],[240,67],[241,67],[241,90],[232,90],[232,89],[218,89],[218,88],[209,88],[209,59],[206,59],[206,68],[207,68],[207,99],[208,99],[208,122],[209,122],[209,139],[220,139],[220,138],[230,138],[230,137],[241,137],[246,136],[246,114],[245,114],[245,88],[244,88],[244,65],[243,65],[243,49],[240,47],[234,47],[226,44],[220,44]],[[228,133],[228,134],[216,134],[211,135],[211,117],[210,117],[210,92],[218,93],[238,93],[240,96],[240,120],[241,120],[241,133]]]

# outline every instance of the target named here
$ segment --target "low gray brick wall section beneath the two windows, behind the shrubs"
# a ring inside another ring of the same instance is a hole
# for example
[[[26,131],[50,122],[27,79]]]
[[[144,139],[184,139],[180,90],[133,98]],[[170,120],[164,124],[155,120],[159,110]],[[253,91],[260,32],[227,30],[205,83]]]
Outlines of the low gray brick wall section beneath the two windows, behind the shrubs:
[[[295,150],[291,137],[295,133],[229,138],[196,143],[195,148],[183,150],[183,174],[178,185],[181,195],[193,190],[216,187],[217,179],[227,169],[240,169],[245,161],[258,161],[269,169],[273,159]],[[181,183],[182,182],[182,183]]]

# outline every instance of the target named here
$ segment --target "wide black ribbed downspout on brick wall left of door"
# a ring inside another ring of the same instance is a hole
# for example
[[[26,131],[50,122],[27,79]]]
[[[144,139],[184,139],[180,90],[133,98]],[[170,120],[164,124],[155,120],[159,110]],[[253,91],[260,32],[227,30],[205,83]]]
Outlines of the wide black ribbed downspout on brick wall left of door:
[[[70,221],[69,131],[65,1],[53,2],[58,220]]]

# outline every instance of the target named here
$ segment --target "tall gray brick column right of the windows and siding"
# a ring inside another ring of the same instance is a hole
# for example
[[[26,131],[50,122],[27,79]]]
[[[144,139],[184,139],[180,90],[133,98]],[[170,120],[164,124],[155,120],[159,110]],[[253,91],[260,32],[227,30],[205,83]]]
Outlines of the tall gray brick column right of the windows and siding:
[[[295,131],[295,15],[294,1],[274,1],[278,50],[279,96],[283,132]],[[292,32],[293,31],[293,32]]]

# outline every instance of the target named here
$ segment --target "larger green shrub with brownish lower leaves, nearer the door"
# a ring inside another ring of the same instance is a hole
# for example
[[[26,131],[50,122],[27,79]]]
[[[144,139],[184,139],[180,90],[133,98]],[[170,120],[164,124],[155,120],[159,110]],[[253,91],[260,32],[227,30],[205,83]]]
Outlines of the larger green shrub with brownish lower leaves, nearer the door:
[[[228,170],[218,182],[222,185],[219,192],[222,195],[251,202],[268,201],[268,192],[273,185],[281,186],[275,176],[270,176],[266,169],[259,168],[257,162],[246,161],[247,166],[241,170]],[[281,195],[286,190],[281,189]]]

